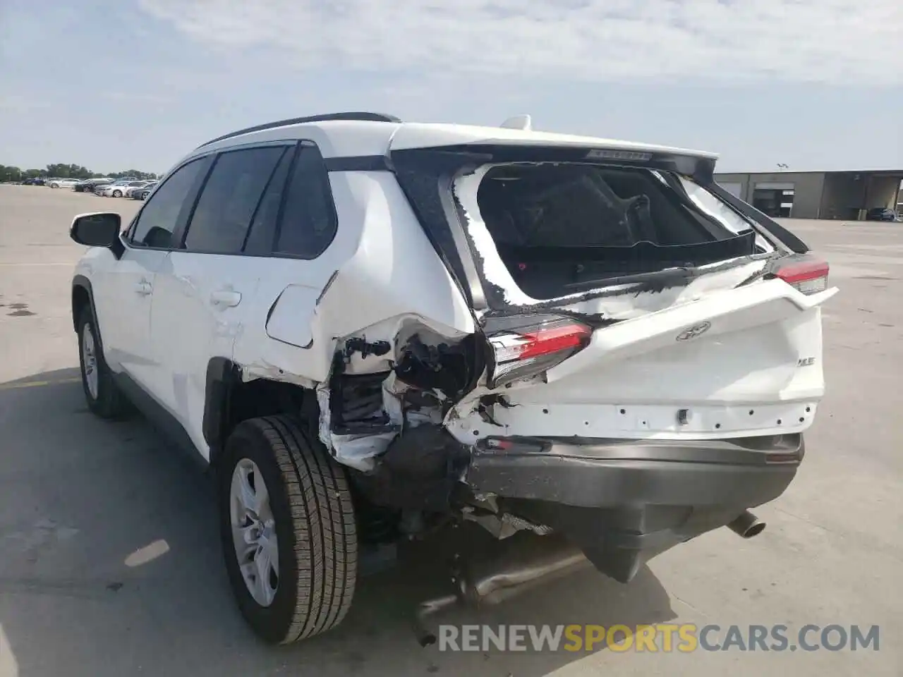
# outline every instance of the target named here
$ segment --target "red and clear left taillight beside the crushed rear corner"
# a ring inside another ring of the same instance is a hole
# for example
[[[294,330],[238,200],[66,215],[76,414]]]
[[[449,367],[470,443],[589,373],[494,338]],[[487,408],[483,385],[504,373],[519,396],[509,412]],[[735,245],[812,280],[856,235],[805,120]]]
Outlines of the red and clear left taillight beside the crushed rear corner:
[[[493,319],[486,329],[490,388],[542,374],[585,348],[592,336],[586,325],[554,315]]]

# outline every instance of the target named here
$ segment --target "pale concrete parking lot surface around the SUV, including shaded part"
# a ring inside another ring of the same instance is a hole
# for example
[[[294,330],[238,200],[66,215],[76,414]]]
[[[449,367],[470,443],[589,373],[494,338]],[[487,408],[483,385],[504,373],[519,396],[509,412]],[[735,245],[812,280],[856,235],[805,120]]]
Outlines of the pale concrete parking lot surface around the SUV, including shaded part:
[[[796,480],[744,541],[720,529],[622,586],[594,571],[450,623],[880,626],[879,650],[450,653],[420,648],[423,563],[363,580],[333,632],[256,641],[219,557],[209,482],[78,383],[72,216],[140,202],[0,186],[0,677],[903,674],[903,225],[788,220],[831,264],[828,392]]]

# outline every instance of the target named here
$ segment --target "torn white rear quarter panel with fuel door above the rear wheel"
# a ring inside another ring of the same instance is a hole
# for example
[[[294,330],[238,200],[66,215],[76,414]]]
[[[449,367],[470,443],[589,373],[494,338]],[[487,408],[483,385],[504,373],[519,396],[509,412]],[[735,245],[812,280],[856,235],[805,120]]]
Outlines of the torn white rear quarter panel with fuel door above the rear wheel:
[[[340,462],[365,469],[400,430],[400,399],[408,386],[390,376],[412,339],[452,346],[476,327],[395,177],[333,172],[330,181],[340,224],[336,240],[322,260],[267,261],[258,287],[259,317],[237,337],[235,361],[245,380],[315,388],[321,440]],[[381,344],[389,349],[375,348]],[[334,431],[333,390],[342,378],[368,374],[386,381],[378,424]]]

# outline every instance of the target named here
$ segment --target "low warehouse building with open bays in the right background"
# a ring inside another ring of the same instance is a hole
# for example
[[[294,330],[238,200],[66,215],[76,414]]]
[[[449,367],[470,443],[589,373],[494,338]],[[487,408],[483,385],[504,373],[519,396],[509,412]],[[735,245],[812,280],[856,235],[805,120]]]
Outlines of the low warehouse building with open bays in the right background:
[[[715,181],[771,217],[856,220],[903,200],[903,170],[716,173]]]

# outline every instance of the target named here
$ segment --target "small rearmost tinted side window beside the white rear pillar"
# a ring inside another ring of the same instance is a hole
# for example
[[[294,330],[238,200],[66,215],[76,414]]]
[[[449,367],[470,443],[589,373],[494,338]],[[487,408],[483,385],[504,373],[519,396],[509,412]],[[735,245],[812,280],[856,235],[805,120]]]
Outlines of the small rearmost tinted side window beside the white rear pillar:
[[[306,259],[321,255],[336,234],[329,174],[319,149],[298,147],[273,251]]]

